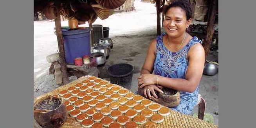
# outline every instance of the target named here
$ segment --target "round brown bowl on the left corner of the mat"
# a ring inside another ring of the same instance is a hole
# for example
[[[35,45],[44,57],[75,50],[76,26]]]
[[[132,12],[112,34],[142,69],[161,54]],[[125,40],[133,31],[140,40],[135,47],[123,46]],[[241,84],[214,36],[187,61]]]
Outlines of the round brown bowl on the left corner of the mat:
[[[54,110],[36,109],[35,106],[47,99],[56,99],[61,103]],[[67,119],[67,109],[62,98],[51,95],[42,97],[34,103],[34,127],[35,128],[59,128]]]

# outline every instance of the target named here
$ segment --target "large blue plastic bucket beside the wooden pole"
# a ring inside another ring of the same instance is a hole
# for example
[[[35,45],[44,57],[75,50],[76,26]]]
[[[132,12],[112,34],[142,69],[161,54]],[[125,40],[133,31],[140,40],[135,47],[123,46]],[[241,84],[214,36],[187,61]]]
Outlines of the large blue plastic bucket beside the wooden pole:
[[[62,32],[66,63],[75,63],[74,59],[91,56],[90,29],[78,29]]]

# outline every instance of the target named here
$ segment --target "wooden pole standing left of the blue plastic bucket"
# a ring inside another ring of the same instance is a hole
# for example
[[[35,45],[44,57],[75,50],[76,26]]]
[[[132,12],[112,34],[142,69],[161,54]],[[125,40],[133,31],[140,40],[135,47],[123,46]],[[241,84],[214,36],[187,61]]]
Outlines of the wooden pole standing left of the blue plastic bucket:
[[[55,0],[54,2],[54,14],[57,16],[54,19],[55,27],[56,27],[56,35],[58,40],[58,47],[59,47],[59,63],[61,65],[61,73],[62,73],[62,79],[63,79],[63,85],[69,83],[69,77],[67,74],[67,65],[65,60],[65,50],[64,50],[64,44],[63,44],[63,37],[61,32],[61,22],[60,22],[60,0]]]

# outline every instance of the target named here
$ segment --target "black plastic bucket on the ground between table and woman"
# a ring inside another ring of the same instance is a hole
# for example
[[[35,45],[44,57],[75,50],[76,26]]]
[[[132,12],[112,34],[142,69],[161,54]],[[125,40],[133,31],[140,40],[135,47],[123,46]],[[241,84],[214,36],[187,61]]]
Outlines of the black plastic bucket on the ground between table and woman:
[[[114,64],[107,69],[110,82],[131,89],[133,66],[128,63]]]

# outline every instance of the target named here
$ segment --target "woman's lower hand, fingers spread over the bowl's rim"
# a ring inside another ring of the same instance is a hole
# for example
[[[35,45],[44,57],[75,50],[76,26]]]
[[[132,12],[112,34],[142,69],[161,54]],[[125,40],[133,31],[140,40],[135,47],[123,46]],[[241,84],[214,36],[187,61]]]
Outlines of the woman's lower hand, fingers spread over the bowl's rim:
[[[145,97],[149,97],[150,99],[152,99],[150,92],[152,93],[152,95],[157,98],[157,94],[155,94],[155,90],[160,92],[160,93],[164,93],[162,90],[160,90],[155,84],[154,85],[148,85],[146,87],[144,87],[144,96]]]

